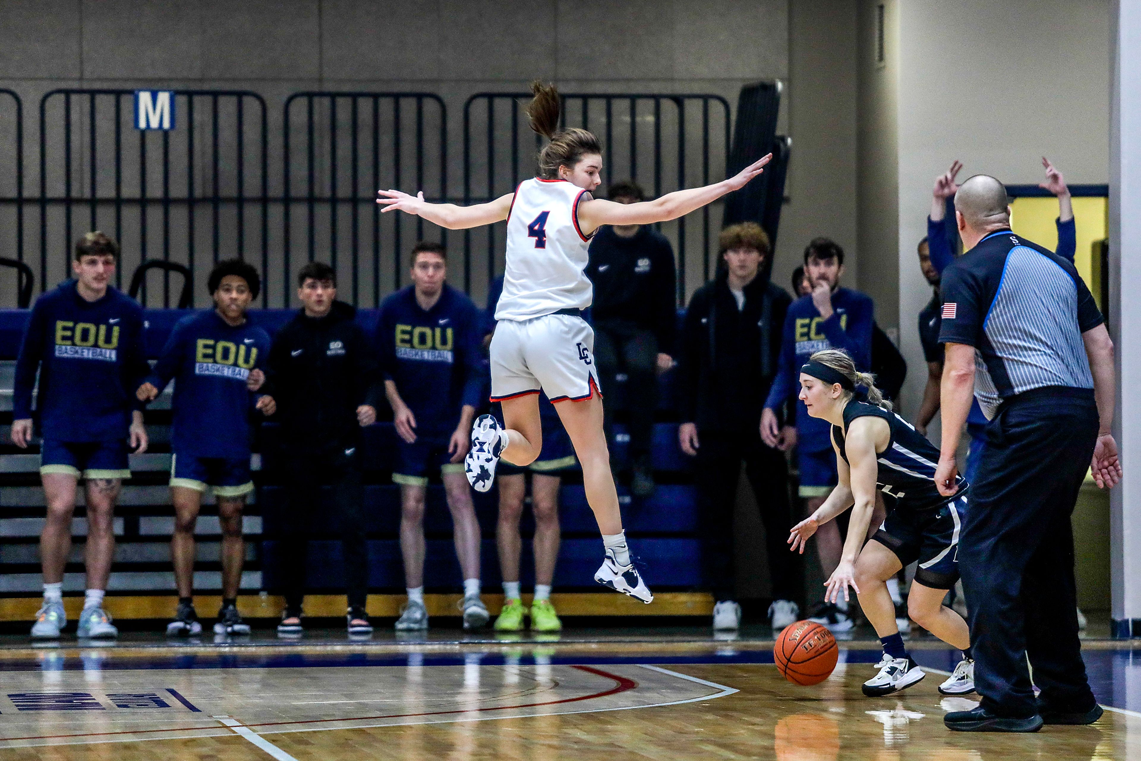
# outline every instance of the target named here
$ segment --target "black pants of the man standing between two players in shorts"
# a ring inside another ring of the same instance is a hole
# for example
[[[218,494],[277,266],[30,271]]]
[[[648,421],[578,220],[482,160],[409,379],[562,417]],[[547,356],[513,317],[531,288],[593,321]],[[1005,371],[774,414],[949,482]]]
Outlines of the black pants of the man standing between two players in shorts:
[[[346,454],[348,452],[348,454]],[[319,453],[297,453],[285,470],[286,502],[282,526],[280,578],[285,605],[297,610],[305,597],[306,545],[314,526],[340,534],[345,558],[345,588],[350,606],[364,606],[369,594],[369,551],[363,513],[364,489],[357,452],[351,445]],[[333,510],[327,516],[321,487],[333,486]],[[317,513],[319,517],[315,517]]]

